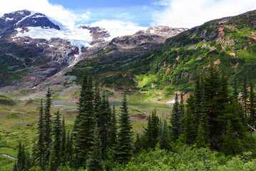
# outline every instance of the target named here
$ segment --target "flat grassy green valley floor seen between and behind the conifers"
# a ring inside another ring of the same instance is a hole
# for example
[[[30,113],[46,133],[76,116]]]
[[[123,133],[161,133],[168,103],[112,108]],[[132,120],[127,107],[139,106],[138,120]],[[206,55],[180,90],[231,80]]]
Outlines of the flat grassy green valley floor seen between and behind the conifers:
[[[53,104],[51,114],[60,110],[61,115],[65,117],[66,129],[72,130],[73,123],[78,113],[76,94],[78,90],[67,92],[65,95],[59,95],[63,90],[53,93]],[[26,147],[31,152],[31,149],[36,141],[37,122],[39,118],[40,98],[44,97],[45,91],[39,90],[17,90],[12,93],[5,93],[6,98],[15,99],[15,105],[0,105],[0,170],[11,170],[14,165],[14,159],[4,156],[17,157],[17,146],[19,140],[24,142]],[[107,91],[111,95],[111,107],[116,104],[116,113],[119,114],[121,108],[121,92],[113,96],[111,91]],[[2,94],[3,95],[3,94]],[[28,99],[30,97],[38,98]],[[166,101],[170,100],[172,95],[163,92],[137,92],[130,93],[128,100],[128,108],[130,113],[131,123],[133,125],[133,133],[140,133],[146,128],[148,123],[148,115],[157,111],[160,118],[170,118],[171,106],[167,105]],[[166,99],[168,98],[168,99]],[[23,100],[20,100],[23,99]],[[72,103],[70,103],[72,102]],[[140,103],[140,104],[133,104]],[[157,108],[155,108],[157,106]]]

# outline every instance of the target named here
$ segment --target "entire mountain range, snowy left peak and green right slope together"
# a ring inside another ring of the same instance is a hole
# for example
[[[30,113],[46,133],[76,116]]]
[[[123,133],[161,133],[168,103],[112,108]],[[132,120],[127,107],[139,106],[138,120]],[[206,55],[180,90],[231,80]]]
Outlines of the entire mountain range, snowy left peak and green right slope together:
[[[85,68],[109,87],[189,91],[210,60],[230,81],[256,79],[256,11],[195,28],[106,30],[63,26],[34,11],[0,18],[0,87],[34,88],[81,80]]]

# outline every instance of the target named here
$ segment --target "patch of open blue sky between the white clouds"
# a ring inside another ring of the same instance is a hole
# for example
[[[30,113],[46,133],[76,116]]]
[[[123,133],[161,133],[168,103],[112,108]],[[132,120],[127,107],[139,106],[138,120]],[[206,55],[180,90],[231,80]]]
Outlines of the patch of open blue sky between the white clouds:
[[[90,18],[83,23],[106,20],[132,21],[138,26],[150,26],[153,11],[161,11],[164,6],[150,0],[49,0],[51,4],[61,4],[66,9],[84,14],[90,11]]]

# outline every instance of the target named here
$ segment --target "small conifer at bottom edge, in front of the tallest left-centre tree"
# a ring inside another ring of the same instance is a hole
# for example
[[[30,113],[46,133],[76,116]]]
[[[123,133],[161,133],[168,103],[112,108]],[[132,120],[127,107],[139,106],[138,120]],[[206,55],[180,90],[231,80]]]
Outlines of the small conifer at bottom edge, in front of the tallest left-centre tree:
[[[95,125],[94,131],[93,131],[93,140],[91,142],[91,150],[88,152],[88,160],[86,161],[86,168],[89,171],[103,170],[103,160],[102,160],[102,153],[101,153],[101,138],[99,137],[99,131],[100,128],[98,128],[98,125]]]

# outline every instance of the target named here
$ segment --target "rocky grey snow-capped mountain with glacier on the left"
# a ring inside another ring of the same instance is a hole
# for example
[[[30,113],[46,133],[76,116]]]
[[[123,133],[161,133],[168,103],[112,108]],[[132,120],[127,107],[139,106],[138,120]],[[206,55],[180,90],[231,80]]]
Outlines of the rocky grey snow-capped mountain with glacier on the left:
[[[0,71],[0,87],[17,84],[34,87],[72,68],[83,58],[96,57],[99,51],[110,46],[122,53],[122,49],[133,49],[142,43],[163,43],[166,38],[185,31],[185,28],[168,26],[141,31],[138,28],[63,26],[44,14],[27,10],[4,14],[0,17],[0,58],[7,56],[15,62],[5,72]],[[22,83],[9,80],[11,74],[24,69]]]

